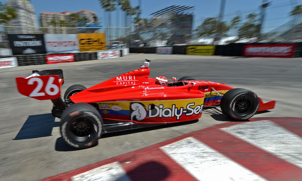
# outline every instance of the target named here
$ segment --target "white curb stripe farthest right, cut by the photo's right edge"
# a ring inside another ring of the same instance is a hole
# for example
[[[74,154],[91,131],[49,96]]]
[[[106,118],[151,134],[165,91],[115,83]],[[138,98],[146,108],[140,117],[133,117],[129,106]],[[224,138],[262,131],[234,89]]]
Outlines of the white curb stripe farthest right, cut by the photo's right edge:
[[[221,130],[302,168],[302,138],[276,123],[256,121]]]

